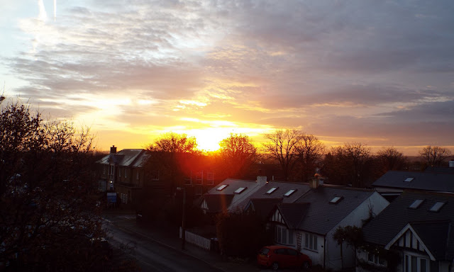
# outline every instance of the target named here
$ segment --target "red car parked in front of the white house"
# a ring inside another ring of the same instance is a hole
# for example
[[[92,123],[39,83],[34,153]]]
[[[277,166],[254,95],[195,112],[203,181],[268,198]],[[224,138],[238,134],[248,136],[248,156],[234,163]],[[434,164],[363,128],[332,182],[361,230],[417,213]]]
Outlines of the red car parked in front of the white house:
[[[271,266],[274,270],[285,267],[301,267],[307,269],[312,266],[309,256],[288,246],[263,246],[257,254],[259,266]]]

